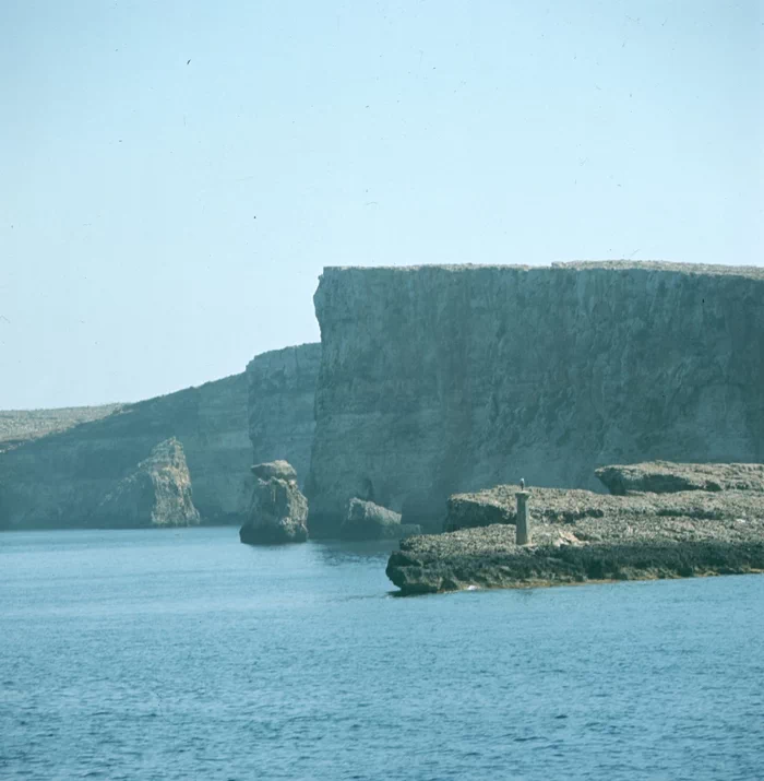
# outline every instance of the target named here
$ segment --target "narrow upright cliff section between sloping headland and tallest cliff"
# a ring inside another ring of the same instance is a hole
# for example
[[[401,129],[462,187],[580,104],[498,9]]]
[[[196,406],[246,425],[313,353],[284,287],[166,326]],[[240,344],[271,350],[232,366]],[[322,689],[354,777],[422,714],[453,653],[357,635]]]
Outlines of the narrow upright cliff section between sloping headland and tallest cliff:
[[[263,353],[247,366],[252,462],[288,461],[300,486],[310,466],[320,365],[321,345],[301,344]]]

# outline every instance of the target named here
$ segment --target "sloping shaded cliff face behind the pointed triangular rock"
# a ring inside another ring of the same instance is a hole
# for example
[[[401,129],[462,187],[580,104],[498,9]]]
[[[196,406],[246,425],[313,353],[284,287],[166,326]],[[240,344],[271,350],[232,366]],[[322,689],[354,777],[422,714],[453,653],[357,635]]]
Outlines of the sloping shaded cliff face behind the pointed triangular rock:
[[[240,522],[253,483],[247,428],[241,374],[20,445],[0,453],[0,528],[87,525],[117,483],[170,437],[182,443],[202,521]]]

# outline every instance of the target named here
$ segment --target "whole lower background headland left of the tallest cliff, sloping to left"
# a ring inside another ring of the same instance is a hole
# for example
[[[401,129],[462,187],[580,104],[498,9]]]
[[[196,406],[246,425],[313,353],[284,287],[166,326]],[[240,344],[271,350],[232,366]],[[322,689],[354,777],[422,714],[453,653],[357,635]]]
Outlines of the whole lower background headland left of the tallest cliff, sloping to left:
[[[19,446],[0,452],[0,529],[85,525],[117,483],[170,437],[183,446],[202,523],[242,523],[254,484],[250,421],[260,422],[258,460],[293,457],[302,477],[308,471],[319,356],[320,345],[266,353],[246,375],[92,413],[11,414],[5,442],[14,437]],[[84,422],[70,426],[74,419]],[[44,426],[46,436],[17,442]]]

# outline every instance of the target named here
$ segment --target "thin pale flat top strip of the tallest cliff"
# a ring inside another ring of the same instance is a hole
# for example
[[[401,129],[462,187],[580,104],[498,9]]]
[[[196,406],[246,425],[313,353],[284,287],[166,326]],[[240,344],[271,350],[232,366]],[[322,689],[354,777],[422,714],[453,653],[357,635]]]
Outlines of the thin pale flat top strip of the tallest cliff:
[[[324,273],[337,271],[396,271],[401,273],[435,270],[451,273],[486,270],[527,271],[546,273],[551,270],[592,271],[604,269],[608,271],[667,271],[681,274],[700,274],[704,276],[745,276],[751,280],[764,280],[764,267],[757,265],[721,265],[704,263],[677,263],[664,260],[574,260],[552,263],[551,265],[523,265],[499,263],[458,263],[458,264],[423,264],[423,265],[327,265]]]

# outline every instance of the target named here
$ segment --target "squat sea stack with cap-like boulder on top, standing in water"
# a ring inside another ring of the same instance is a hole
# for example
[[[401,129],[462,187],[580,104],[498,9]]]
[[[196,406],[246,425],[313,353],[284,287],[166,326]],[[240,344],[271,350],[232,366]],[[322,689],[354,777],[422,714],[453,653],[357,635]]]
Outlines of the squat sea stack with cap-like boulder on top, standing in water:
[[[252,468],[255,484],[239,539],[249,545],[301,543],[308,539],[308,501],[285,461]]]

